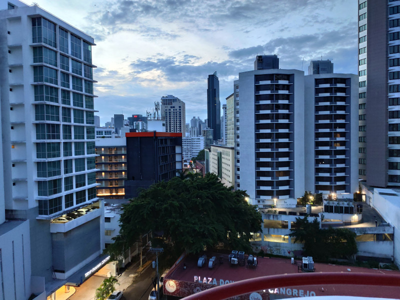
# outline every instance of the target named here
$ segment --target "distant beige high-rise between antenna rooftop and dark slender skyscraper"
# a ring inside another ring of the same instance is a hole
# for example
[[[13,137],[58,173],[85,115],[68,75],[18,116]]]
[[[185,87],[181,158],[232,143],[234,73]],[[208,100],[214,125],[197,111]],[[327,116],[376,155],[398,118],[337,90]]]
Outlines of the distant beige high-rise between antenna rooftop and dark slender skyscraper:
[[[182,100],[173,95],[162,96],[161,113],[165,119],[165,132],[180,132],[185,135],[185,104]]]

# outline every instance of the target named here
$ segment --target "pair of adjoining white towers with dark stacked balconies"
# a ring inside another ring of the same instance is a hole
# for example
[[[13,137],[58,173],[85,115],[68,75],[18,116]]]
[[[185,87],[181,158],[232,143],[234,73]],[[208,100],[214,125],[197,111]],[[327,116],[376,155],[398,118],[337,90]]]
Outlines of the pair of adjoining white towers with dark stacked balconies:
[[[304,76],[274,56],[258,55],[234,81],[235,187],[253,204],[356,191],[357,76],[331,73],[330,61],[312,61]]]

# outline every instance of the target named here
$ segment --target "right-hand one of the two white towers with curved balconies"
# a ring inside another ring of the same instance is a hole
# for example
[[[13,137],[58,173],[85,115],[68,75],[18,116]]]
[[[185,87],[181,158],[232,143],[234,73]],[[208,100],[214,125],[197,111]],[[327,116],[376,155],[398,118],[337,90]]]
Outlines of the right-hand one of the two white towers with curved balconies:
[[[314,116],[304,118],[305,190],[353,193],[358,190],[358,76],[333,73],[331,61],[317,60],[304,80],[305,114]]]

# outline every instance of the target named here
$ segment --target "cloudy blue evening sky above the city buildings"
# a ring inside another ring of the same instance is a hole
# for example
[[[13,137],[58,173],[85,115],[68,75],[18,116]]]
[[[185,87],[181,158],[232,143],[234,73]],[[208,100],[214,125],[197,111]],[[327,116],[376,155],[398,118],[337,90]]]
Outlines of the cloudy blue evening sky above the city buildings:
[[[186,123],[207,117],[207,77],[216,71],[221,105],[257,54],[303,69],[332,59],[357,73],[357,1],[349,0],[35,0],[94,37],[96,115],[146,115],[172,94]],[[31,3],[29,3],[31,4]]]

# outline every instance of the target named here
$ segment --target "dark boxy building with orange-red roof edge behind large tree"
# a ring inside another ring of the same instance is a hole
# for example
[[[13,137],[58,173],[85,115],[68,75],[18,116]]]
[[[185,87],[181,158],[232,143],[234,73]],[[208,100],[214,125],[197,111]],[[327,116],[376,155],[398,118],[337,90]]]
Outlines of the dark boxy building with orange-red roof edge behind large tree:
[[[125,197],[182,171],[182,133],[127,132]]]

